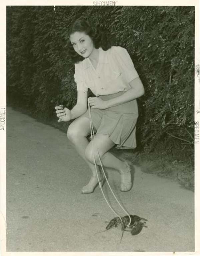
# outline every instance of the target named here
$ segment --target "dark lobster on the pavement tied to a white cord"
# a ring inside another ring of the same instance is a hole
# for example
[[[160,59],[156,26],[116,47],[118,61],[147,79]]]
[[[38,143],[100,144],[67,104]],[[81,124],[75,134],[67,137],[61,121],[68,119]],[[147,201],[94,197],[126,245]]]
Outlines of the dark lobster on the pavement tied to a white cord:
[[[130,222],[130,218],[131,218],[131,223],[128,226],[128,224]],[[134,236],[134,235],[139,234],[142,231],[143,227],[147,227],[147,226],[145,226],[146,221],[147,221],[146,219],[140,218],[137,215],[130,215],[130,218],[129,218],[128,215],[126,215],[124,217],[121,217],[122,221],[120,220],[119,217],[113,218],[108,223],[105,231],[107,231],[107,230],[109,230],[109,229],[111,229],[113,227],[118,227],[118,225],[121,224],[121,226],[122,226],[122,229],[121,229],[122,230],[121,240],[122,240],[124,231],[130,231],[131,235]],[[102,231],[102,232],[104,232],[104,231]],[[120,242],[121,242],[121,240],[120,240]]]

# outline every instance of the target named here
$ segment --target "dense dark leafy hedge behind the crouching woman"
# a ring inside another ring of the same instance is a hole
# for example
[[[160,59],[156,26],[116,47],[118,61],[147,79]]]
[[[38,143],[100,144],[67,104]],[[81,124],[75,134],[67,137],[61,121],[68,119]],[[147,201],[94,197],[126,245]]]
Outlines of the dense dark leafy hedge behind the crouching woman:
[[[192,6],[8,6],[7,97],[44,119],[76,103],[66,30],[84,16],[125,47],[145,87],[138,99],[138,141],[193,144],[194,17]]]

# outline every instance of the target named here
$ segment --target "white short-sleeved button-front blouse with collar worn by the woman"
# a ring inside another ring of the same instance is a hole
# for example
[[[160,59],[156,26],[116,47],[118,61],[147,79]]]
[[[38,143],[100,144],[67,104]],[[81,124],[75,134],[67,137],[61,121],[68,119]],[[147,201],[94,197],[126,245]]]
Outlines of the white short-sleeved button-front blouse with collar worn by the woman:
[[[99,48],[99,61],[96,69],[89,58],[75,64],[74,81],[77,90],[88,88],[97,97],[127,91],[129,82],[139,77],[127,50],[121,46],[112,46],[104,51]]]

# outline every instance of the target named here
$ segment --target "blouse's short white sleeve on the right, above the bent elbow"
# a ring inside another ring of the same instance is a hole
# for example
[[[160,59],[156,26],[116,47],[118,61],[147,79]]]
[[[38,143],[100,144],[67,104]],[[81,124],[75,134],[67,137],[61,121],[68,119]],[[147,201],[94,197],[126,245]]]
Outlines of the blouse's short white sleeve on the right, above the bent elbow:
[[[113,55],[116,65],[120,68],[127,83],[139,77],[128,51],[121,46],[113,46]]]

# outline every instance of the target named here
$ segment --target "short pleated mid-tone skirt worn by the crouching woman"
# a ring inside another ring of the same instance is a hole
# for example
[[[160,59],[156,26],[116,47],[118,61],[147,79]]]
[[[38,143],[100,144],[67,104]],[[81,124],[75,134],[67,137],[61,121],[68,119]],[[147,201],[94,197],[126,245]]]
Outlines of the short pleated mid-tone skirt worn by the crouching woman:
[[[110,95],[100,95],[106,101],[122,95],[119,92]],[[108,134],[109,138],[116,144],[118,149],[136,148],[136,122],[138,118],[137,101],[110,107],[107,109],[90,109],[92,124],[96,134]],[[83,116],[89,119],[88,110]]]

